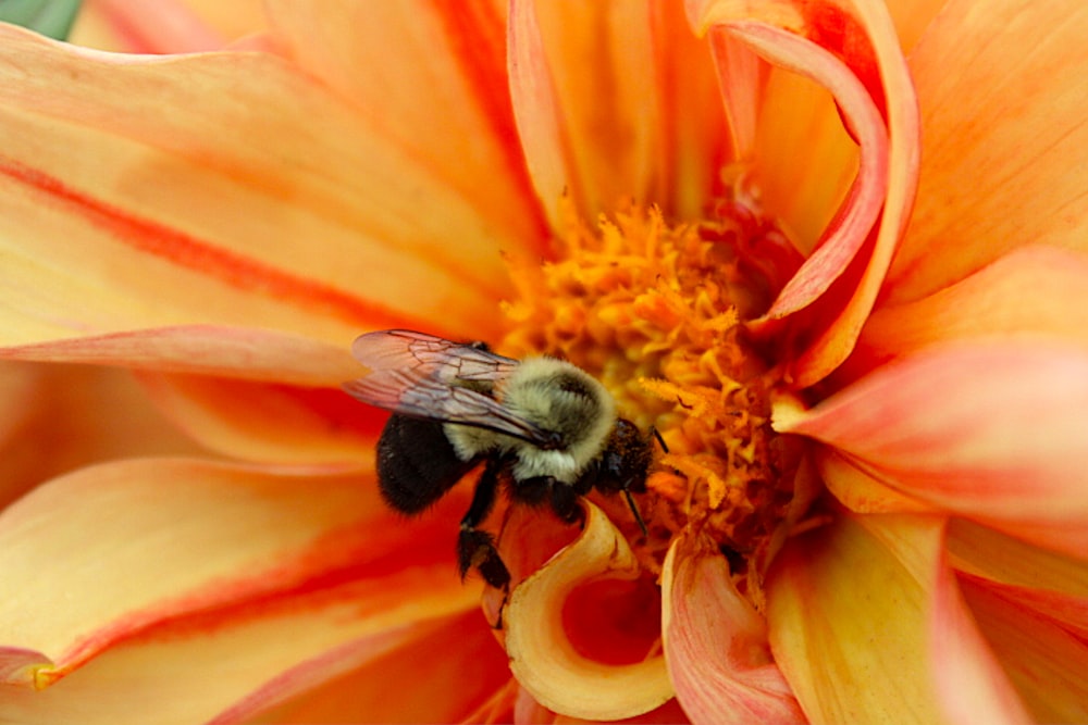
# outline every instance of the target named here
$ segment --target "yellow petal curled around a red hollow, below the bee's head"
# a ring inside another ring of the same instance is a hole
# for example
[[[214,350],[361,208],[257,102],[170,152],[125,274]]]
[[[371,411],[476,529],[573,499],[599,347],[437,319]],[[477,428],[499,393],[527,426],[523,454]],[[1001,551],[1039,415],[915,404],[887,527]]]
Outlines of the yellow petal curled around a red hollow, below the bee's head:
[[[585,528],[510,593],[504,621],[510,670],[533,698],[554,712],[588,720],[619,720],[669,700],[665,659],[605,664],[581,654],[564,624],[568,599],[602,579],[634,580],[640,567],[608,517],[585,503]]]

